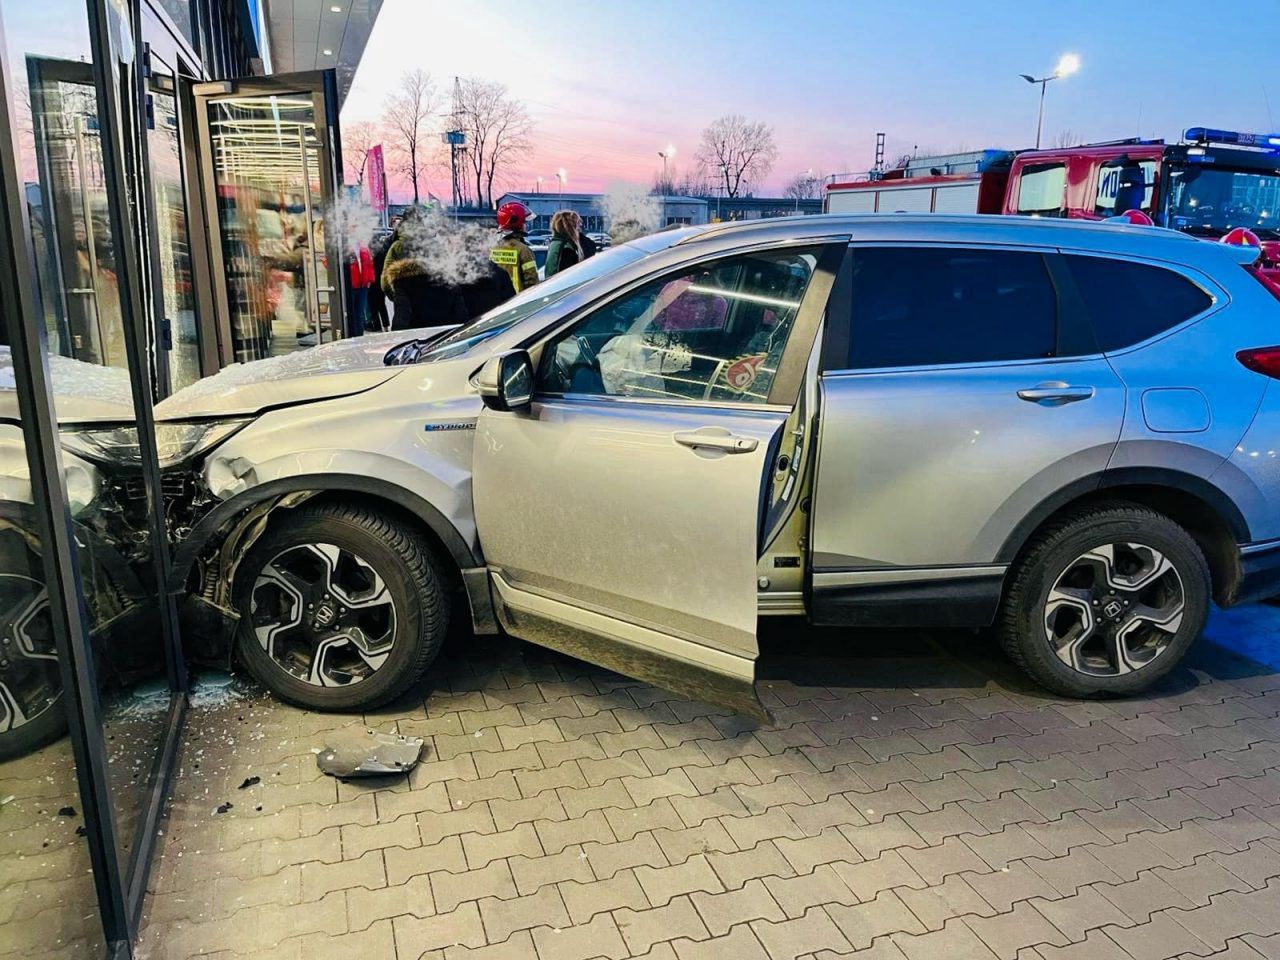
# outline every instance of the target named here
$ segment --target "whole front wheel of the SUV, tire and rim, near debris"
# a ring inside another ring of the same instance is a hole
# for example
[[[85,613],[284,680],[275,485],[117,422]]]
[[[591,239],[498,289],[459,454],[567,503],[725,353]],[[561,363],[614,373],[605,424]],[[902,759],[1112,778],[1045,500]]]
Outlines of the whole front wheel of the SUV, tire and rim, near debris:
[[[283,700],[364,710],[393,700],[435,659],[449,608],[430,545],[351,504],[287,513],[236,579],[239,658]]]

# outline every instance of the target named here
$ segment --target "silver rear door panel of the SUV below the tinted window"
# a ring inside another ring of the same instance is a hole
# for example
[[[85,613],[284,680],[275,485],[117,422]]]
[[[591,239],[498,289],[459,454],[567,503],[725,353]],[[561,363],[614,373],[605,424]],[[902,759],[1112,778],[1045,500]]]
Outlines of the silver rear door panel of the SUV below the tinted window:
[[[1019,398],[1051,380],[1096,393]],[[1101,358],[823,376],[814,571],[996,562],[1028,511],[1106,467],[1123,410]]]

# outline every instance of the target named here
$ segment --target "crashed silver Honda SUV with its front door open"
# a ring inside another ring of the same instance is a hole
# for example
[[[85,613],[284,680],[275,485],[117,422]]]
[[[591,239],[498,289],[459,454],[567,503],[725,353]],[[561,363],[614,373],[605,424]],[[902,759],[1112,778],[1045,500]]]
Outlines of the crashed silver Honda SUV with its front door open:
[[[762,716],[758,618],[795,614],[995,625],[1053,691],[1138,691],[1280,577],[1256,252],[993,216],[685,228],[458,329],[224,371],[159,410],[189,655],[362,709],[461,613]],[[127,472],[118,435],[67,435],[90,489]]]

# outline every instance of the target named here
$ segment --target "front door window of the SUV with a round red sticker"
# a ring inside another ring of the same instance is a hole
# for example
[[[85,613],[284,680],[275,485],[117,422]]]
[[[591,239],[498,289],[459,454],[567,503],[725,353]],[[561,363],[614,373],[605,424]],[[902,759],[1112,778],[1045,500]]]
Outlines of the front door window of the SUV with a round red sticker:
[[[539,390],[764,403],[817,260],[774,250],[645,283],[547,344]]]

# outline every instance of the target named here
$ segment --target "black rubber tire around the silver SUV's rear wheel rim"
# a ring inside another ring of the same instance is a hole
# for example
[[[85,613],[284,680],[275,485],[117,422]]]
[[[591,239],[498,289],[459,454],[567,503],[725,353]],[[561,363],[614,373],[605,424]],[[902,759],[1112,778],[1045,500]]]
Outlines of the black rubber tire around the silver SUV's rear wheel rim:
[[[1172,564],[1183,594],[1180,623],[1158,655],[1139,668],[1112,676],[1082,672],[1057,655],[1047,635],[1050,590],[1087,552],[1125,543],[1158,550]],[[997,621],[1001,646],[1052,692],[1082,699],[1138,694],[1176,667],[1203,631],[1210,585],[1204,554],[1190,534],[1165,515],[1126,502],[1084,507],[1037,534],[1011,571]]]

